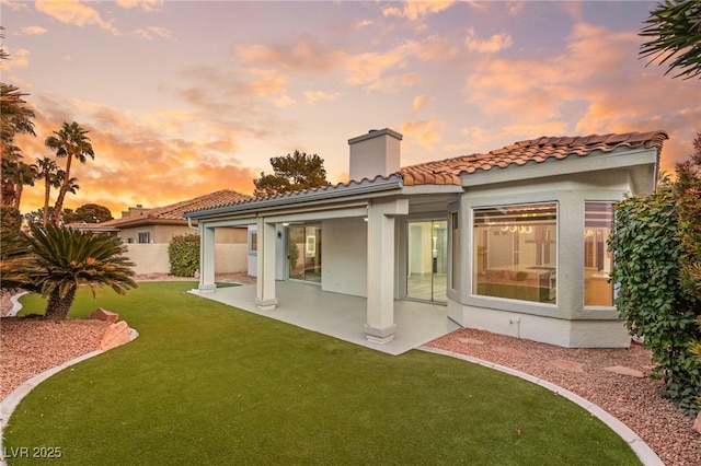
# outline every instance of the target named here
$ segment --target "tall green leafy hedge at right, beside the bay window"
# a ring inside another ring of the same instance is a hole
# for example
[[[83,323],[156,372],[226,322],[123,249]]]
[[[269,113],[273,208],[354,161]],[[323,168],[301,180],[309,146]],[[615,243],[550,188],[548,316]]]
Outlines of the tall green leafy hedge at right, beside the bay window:
[[[609,248],[616,305],[631,335],[652,350],[653,376],[664,381],[664,397],[693,416],[701,403],[701,342],[697,318],[701,302],[680,282],[683,256],[678,190],[668,179],[657,193],[628,198],[616,207]]]

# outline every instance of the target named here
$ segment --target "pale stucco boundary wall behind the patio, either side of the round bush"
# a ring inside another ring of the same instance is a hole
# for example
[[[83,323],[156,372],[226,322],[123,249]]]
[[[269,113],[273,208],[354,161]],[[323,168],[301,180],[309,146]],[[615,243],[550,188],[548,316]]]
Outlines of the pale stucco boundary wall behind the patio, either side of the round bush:
[[[126,244],[126,256],[136,264],[137,275],[170,273],[171,264],[166,243]],[[245,244],[215,245],[215,273],[235,273],[248,270],[248,247]]]

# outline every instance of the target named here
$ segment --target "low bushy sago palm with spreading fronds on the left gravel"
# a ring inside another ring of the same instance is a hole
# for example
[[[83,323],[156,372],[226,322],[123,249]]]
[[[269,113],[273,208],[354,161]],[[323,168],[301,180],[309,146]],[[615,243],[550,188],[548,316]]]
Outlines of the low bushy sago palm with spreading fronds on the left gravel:
[[[1,271],[3,279],[48,298],[44,318],[65,319],[80,286],[90,287],[93,298],[105,284],[118,294],[138,287],[119,238],[55,225],[30,229],[23,233],[30,257],[3,260]]]

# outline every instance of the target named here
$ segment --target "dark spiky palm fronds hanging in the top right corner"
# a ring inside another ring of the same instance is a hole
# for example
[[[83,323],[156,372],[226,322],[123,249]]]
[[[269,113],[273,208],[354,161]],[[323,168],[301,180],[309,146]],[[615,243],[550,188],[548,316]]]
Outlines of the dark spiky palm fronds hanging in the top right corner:
[[[640,33],[653,37],[641,46],[640,55],[650,62],[663,57],[659,65],[680,70],[674,78],[693,78],[701,74],[701,2],[692,0],[666,0],[650,12],[647,25]]]

